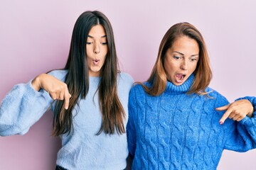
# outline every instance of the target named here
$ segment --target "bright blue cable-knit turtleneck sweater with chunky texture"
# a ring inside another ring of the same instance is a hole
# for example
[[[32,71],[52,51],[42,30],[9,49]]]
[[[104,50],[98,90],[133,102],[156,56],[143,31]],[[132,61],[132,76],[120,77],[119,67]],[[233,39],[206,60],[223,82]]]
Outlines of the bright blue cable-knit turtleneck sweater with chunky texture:
[[[160,96],[149,96],[141,85],[132,88],[127,124],[132,169],[216,169],[223,149],[256,147],[256,113],[220,125],[224,112],[215,108],[228,104],[227,99],[210,88],[206,91],[212,98],[187,95],[193,79],[181,86],[168,82]],[[255,107],[255,97],[247,99]]]

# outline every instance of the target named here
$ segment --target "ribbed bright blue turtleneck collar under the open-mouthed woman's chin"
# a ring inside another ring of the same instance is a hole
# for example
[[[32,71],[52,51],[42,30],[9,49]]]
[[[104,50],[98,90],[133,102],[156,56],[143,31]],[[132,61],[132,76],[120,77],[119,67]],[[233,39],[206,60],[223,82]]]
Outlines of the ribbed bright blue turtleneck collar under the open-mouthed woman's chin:
[[[185,94],[192,86],[194,79],[195,76],[191,74],[191,76],[188,77],[188,79],[183,84],[181,84],[181,86],[176,86],[171,83],[171,81],[167,81],[166,90],[164,92],[171,94]]]

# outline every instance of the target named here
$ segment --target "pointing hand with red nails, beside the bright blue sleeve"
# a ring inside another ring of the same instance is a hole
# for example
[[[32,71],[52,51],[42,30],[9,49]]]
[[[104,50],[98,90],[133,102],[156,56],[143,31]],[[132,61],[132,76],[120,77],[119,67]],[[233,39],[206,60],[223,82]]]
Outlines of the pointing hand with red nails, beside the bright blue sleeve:
[[[220,125],[222,125],[227,118],[240,121],[246,117],[246,115],[252,118],[253,106],[250,101],[242,99],[234,101],[226,106],[215,108],[217,111],[225,111],[223,117],[220,118]]]

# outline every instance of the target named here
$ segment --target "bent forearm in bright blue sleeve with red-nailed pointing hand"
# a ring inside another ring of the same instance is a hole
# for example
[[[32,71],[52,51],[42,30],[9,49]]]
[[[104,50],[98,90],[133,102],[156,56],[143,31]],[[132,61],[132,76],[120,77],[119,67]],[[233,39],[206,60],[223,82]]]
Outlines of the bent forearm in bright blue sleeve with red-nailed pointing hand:
[[[246,152],[256,147],[256,116],[252,104],[255,106],[255,97],[239,98],[227,106],[216,108],[218,111],[226,110],[220,119],[227,134],[225,149]]]

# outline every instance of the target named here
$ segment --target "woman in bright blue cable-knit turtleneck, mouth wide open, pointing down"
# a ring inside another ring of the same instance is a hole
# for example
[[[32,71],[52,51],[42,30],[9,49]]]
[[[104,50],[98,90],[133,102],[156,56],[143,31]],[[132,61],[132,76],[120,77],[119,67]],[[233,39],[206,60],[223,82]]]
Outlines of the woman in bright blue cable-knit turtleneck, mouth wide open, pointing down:
[[[256,147],[255,97],[229,104],[211,77],[201,33],[190,23],[169,28],[149,79],[129,94],[132,169],[216,169],[223,149]]]

